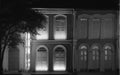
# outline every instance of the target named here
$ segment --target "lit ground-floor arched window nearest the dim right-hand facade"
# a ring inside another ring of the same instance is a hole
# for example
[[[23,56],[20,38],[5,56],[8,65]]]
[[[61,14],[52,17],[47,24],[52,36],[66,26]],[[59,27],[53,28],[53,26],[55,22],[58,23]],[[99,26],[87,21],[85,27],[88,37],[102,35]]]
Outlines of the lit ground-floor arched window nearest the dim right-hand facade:
[[[62,45],[57,45],[53,52],[53,70],[65,71],[66,70],[66,48]]]

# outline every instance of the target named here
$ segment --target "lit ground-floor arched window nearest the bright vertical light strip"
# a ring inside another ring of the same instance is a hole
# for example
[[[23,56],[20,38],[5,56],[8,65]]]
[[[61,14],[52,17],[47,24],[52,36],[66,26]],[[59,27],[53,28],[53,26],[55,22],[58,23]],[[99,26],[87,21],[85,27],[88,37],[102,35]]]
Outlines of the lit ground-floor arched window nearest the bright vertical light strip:
[[[48,48],[41,45],[36,52],[36,71],[48,70]]]

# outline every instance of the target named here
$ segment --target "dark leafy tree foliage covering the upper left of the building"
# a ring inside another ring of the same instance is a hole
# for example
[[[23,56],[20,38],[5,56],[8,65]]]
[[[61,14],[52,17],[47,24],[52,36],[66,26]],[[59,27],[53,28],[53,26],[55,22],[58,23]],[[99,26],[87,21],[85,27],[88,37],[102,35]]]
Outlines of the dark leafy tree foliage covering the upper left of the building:
[[[13,4],[1,9],[0,12],[0,49],[1,62],[5,48],[16,46],[22,42],[20,33],[37,34],[37,29],[43,27],[45,16],[23,4]]]

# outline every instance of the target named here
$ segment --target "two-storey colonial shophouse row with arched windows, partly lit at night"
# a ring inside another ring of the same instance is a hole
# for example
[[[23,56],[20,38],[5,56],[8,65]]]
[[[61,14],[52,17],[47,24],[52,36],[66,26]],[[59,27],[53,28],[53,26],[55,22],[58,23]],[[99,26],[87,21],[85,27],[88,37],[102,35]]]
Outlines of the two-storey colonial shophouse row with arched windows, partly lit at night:
[[[113,10],[33,8],[47,23],[38,35],[22,34],[25,45],[5,51],[4,73],[30,74],[115,71],[118,16]]]

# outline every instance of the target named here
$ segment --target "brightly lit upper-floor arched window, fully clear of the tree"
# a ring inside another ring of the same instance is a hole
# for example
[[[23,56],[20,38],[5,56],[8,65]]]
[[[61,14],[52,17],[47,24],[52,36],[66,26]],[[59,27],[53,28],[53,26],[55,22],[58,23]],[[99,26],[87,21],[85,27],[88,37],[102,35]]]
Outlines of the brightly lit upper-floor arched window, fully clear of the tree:
[[[54,39],[67,39],[67,16],[54,16]]]

